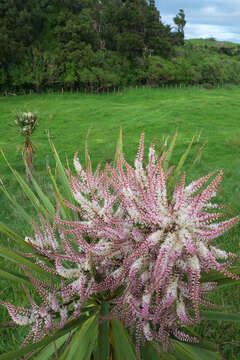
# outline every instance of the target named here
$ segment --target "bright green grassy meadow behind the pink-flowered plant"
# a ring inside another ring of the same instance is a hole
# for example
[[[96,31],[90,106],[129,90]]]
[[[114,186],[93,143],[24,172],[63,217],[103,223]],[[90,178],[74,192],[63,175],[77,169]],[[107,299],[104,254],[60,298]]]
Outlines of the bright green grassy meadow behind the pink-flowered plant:
[[[240,214],[240,88],[221,89],[139,89],[113,94],[43,94],[18,97],[0,97],[0,148],[3,149],[12,167],[24,176],[22,160],[23,138],[14,124],[17,111],[37,111],[39,127],[33,135],[36,146],[35,178],[46,193],[51,187],[46,171],[46,157],[54,166],[47,133],[64,160],[70,162],[79,150],[84,161],[85,140],[93,166],[100,161],[114,159],[119,128],[123,128],[123,151],[132,161],[137,151],[142,131],[145,132],[146,147],[155,139],[163,141],[178,130],[173,162],[186,150],[193,135],[195,148],[205,143],[201,161],[189,174],[192,178],[203,176],[214,169],[223,169],[225,178],[219,201],[232,209],[232,215]],[[200,139],[200,140],[199,140]],[[193,157],[194,154],[190,156]],[[186,164],[188,170],[188,164]],[[26,198],[11,175],[3,158],[0,158],[0,178],[19,202],[31,212]],[[6,197],[0,192],[0,221],[24,235],[28,229],[24,222],[14,216]],[[34,214],[32,212],[32,214]],[[34,215],[33,215],[34,216]],[[11,246],[3,236],[0,240]],[[228,251],[240,253],[240,225],[223,235],[220,242]],[[2,281],[0,298],[11,293],[11,301],[21,303],[23,296],[19,289]],[[221,289],[214,295],[214,301],[224,305],[228,311],[240,312],[240,286]],[[6,318],[6,311],[0,309],[0,319]],[[0,352],[16,347],[22,340],[24,330],[0,327]],[[239,359],[240,326],[231,323],[202,323],[202,335],[219,344],[227,360]]]

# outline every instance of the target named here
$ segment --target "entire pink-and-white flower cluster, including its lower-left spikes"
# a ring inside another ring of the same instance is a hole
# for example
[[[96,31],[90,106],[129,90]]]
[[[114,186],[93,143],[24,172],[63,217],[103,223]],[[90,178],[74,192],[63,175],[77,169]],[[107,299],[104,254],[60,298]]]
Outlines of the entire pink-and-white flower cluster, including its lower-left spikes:
[[[78,205],[65,205],[76,220],[62,219],[58,209],[53,226],[40,217],[41,229],[35,225],[34,238],[26,238],[47,259],[39,266],[56,274],[61,286],[46,285],[25,269],[43,304],[28,293],[32,310],[2,303],[17,324],[33,324],[27,341],[62,327],[79,316],[89,297],[103,294],[112,304],[109,317],[135,328],[137,343],[155,339],[166,349],[170,336],[197,341],[182,326],[199,323],[199,305],[211,305],[205,294],[216,284],[201,282],[201,273],[217,270],[238,279],[227,270],[236,255],[214,246],[238,221],[218,221],[223,207],[212,198],[222,171],[189,185],[183,173],[171,193],[166,154],[157,156],[152,144],[146,166],[143,156],[143,135],[134,166],[119,155],[116,167],[92,172],[88,165],[85,171],[75,155],[78,175],[68,175]]]

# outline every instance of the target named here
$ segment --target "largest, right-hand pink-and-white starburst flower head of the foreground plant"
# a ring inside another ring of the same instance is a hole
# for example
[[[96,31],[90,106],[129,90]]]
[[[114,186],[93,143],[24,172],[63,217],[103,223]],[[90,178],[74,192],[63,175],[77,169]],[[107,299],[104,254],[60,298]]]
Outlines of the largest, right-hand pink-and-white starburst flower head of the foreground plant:
[[[214,286],[200,283],[201,272],[217,270],[238,279],[227,271],[229,261],[224,262],[236,255],[220,250],[214,241],[239,218],[218,222],[222,207],[212,198],[223,177],[221,170],[188,185],[183,173],[169,194],[171,168],[163,169],[165,155],[157,157],[151,145],[145,167],[143,155],[142,135],[134,167],[120,156],[109,180],[132,226],[122,263],[126,289],[118,311],[126,325],[134,326],[138,319],[137,327],[147,340],[156,338],[166,345],[173,334],[191,341],[179,327],[200,322],[199,304],[208,305],[204,294]]]

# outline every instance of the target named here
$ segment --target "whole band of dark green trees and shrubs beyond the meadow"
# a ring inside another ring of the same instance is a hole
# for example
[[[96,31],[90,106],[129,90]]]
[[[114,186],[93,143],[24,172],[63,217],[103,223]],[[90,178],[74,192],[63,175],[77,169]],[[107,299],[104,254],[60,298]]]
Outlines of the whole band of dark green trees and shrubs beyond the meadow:
[[[0,91],[240,83],[240,46],[184,41],[154,0],[1,0]]]

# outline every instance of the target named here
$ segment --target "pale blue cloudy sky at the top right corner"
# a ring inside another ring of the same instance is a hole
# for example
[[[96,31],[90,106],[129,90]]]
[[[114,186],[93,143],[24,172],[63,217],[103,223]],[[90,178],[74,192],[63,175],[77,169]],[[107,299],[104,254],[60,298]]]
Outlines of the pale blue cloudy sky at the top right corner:
[[[240,0],[156,0],[162,21],[173,24],[179,9],[186,14],[185,38],[214,37],[240,43]]]

